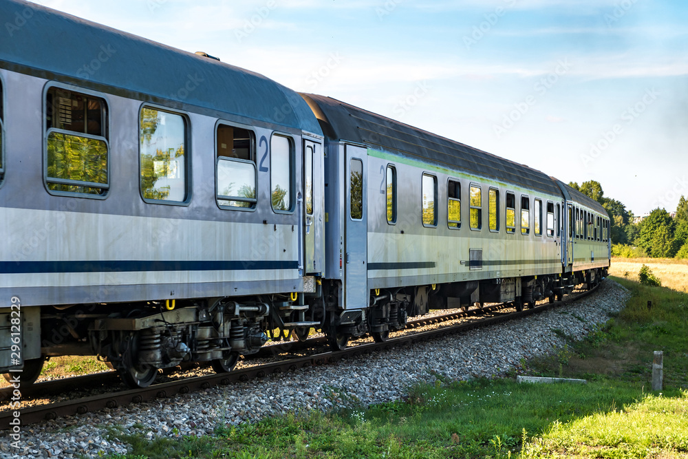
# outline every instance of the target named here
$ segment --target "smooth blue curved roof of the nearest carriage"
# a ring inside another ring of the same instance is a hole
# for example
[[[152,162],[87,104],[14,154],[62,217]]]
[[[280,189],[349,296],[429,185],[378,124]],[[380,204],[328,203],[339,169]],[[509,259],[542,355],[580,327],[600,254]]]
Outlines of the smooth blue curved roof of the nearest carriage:
[[[0,0],[0,17],[0,67],[321,134],[303,99],[265,76],[34,3]]]

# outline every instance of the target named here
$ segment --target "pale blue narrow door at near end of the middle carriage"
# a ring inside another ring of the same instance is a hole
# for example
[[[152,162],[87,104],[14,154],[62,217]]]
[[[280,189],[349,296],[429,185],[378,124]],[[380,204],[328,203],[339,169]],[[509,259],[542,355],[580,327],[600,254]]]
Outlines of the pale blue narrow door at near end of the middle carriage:
[[[344,217],[344,308],[368,306],[366,151],[345,146],[346,215]]]

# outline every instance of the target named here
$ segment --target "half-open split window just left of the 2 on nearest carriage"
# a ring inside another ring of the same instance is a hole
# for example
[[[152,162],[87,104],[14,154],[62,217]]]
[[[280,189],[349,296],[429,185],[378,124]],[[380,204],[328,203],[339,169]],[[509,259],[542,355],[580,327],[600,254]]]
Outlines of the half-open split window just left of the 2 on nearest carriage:
[[[218,125],[217,205],[223,209],[256,208],[255,142],[252,131]]]

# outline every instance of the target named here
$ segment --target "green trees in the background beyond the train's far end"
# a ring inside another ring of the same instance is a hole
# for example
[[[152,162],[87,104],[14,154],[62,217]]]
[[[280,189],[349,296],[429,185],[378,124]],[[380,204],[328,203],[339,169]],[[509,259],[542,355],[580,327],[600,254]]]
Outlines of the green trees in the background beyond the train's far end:
[[[570,182],[569,186],[602,204],[609,213],[612,256],[688,259],[688,200],[683,196],[674,217],[658,208],[634,223],[632,212],[621,201],[606,197],[599,182],[590,180],[580,186]]]

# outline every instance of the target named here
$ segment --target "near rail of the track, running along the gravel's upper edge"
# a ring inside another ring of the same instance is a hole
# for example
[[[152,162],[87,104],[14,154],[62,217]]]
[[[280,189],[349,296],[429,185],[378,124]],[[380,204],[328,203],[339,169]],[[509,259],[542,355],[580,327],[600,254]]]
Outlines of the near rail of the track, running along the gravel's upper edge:
[[[250,379],[264,378],[265,376],[273,374],[295,371],[303,367],[335,363],[338,361],[355,358],[356,356],[361,356],[363,354],[369,354],[371,352],[389,350],[391,348],[411,345],[421,341],[428,341],[429,339],[436,337],[447,336],[457,332],[463,332],[488,325],[494,325],[496,323],[502,323],[504,321],[509,321],[519,317],[527,317],[531,314],[537,314],[552,308],[568,305],[573,301],[577,301],[590,295],[596,289],[597,287],[592,288],[591,290],[586,290],[585,292],[581,292],[574,297],[568,297],[562,301],[545,303],[540,306],[536,306],[535,308],[524,309],[520,312],[499,314],[496,317],[460,323],[458,325],[438,328],[436,330],[429,330],[427,332],[405,334],[401,337],[391,338],[383,343],[365,343],[338,352],[325,352],[312,356],[297,357],[286,361],[268,363],[256,367],[242,368],[241,370],[234,370],[233,372],[229,373],[183,378],[179,381],[155,384],[142,389],[129,389],[120,392],[99,394],[96,396],[63,401],[59,403],[51,403],[48,405],[26,407],[19,410],[19,419],[21,420],[21,425],[29,425],[38,423],[41,420],[54,420],[61,416],[75,416],[78,414],[100,411],[105,408],[112,409],[129,405],[130,403],[142,403],[144,401],[151,401],[155,398],[168,398],[175,396],[176,394],[188,394],[189,392],[205,390],[215,386],[225,386],[238,381],[249,381]],[[0,430],[8,429],[12,419],[14,419],[12,411],[1,412]]]

